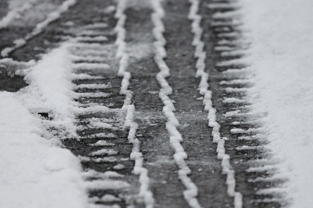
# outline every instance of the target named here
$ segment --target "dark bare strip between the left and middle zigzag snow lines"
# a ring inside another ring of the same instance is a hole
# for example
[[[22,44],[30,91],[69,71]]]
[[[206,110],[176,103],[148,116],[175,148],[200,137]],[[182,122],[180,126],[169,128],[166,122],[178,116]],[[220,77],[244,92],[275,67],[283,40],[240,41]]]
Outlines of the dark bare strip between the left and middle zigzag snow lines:
[[[151,178],[155,207],[188,207],[182,196],[183,186],[177,177],[177,166],[171,160],[173,150],[165,129],[166,119],[161,111],[163,104],[157,96],[158,68],[153,60],[151,5],[135,4],[125,13],[128,16],[125,25],[130,55],[128,71],[132,73],[130,89],[134,92],[134,118],[139,125],[136,137],[141,142],[143,166],[148,169]]]

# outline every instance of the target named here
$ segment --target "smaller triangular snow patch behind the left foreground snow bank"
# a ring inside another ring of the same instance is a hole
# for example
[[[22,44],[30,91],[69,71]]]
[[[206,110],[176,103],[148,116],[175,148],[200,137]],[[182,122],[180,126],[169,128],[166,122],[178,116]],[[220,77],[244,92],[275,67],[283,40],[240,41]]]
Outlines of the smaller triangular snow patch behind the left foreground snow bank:
[[[20,100],[33,113],[48,113],[48,125],[64,129],[64,135],[75,135],[73,125],[76,103],[71,82],[71,60],[67,45],[44,55],[25,76],[30,85],[18,92]]]

